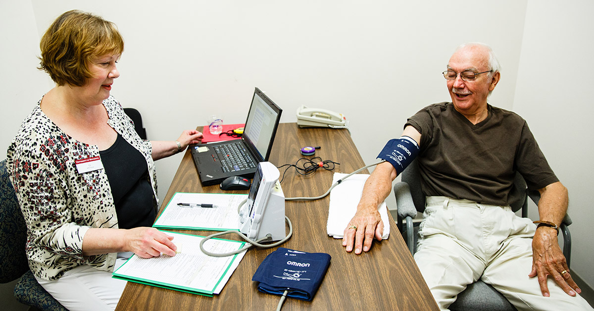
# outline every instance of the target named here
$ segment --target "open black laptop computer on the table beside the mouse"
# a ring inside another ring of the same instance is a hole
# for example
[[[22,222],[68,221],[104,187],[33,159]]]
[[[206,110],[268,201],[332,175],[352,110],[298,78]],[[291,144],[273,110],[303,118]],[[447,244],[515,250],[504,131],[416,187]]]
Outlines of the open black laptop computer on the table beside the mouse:
[[[202,185],[232,176],[254,177],[258,163],[268,161],[282,111],[256,87],[241,139],[191,146]]]

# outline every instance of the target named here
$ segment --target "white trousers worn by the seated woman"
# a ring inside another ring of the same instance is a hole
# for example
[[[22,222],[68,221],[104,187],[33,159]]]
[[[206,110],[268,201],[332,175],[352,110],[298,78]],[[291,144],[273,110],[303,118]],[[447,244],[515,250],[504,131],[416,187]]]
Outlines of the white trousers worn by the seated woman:
[[[115,269],[126,260],[118,256]],[[37,278],[37,282],[70,311],[113,311],[127,283],[112,278],[112,272],[87,265],[68,270],[59,279],[48,281]]]

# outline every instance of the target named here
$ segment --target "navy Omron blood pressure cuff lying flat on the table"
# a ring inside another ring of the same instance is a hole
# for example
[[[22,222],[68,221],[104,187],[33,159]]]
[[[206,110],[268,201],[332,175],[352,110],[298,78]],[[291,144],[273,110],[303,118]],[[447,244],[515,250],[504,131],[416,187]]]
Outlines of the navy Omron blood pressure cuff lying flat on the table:
[[[311,301],[330,266],[330,255],[305,253],[298,250],[279,249],[266,256],[260,263],[252,281],[260,282],[263,293],[282,295]]]

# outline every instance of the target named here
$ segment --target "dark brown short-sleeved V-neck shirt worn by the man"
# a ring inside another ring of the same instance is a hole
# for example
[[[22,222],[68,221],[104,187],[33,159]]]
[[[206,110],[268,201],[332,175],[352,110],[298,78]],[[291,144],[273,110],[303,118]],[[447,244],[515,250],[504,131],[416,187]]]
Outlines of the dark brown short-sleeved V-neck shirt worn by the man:
[[[487,105],[488,116],[472,124],[450,102],[427,106],[405,124],[421,133],[418,162],[426,196],[447,196],[492,205],[519,197],[516,171],[528,189],[558,181],[526,121]]]

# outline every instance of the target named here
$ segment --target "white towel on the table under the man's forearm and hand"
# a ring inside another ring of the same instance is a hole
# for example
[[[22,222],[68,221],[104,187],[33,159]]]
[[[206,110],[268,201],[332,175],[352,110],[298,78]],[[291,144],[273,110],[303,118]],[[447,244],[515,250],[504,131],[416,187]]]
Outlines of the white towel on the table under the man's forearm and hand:
[[[332,184],[346,175],[335,172],[332,178]],[[345,181],[332,189],[330,193],[328,223],[326,225],[326,231],[331,237],[342,238],[342,234],[349,224],[350,219],[355,216],[357,205],[363,193],[363,186],[368,177],[369,174],[355,174],[346,178]],[[382,238],[388,238],[390,235],[390,222],[388,222],[386,202],[382,202],[378,206],[378,211],[380,212],[381,221],[384,222],[384,234]]]

